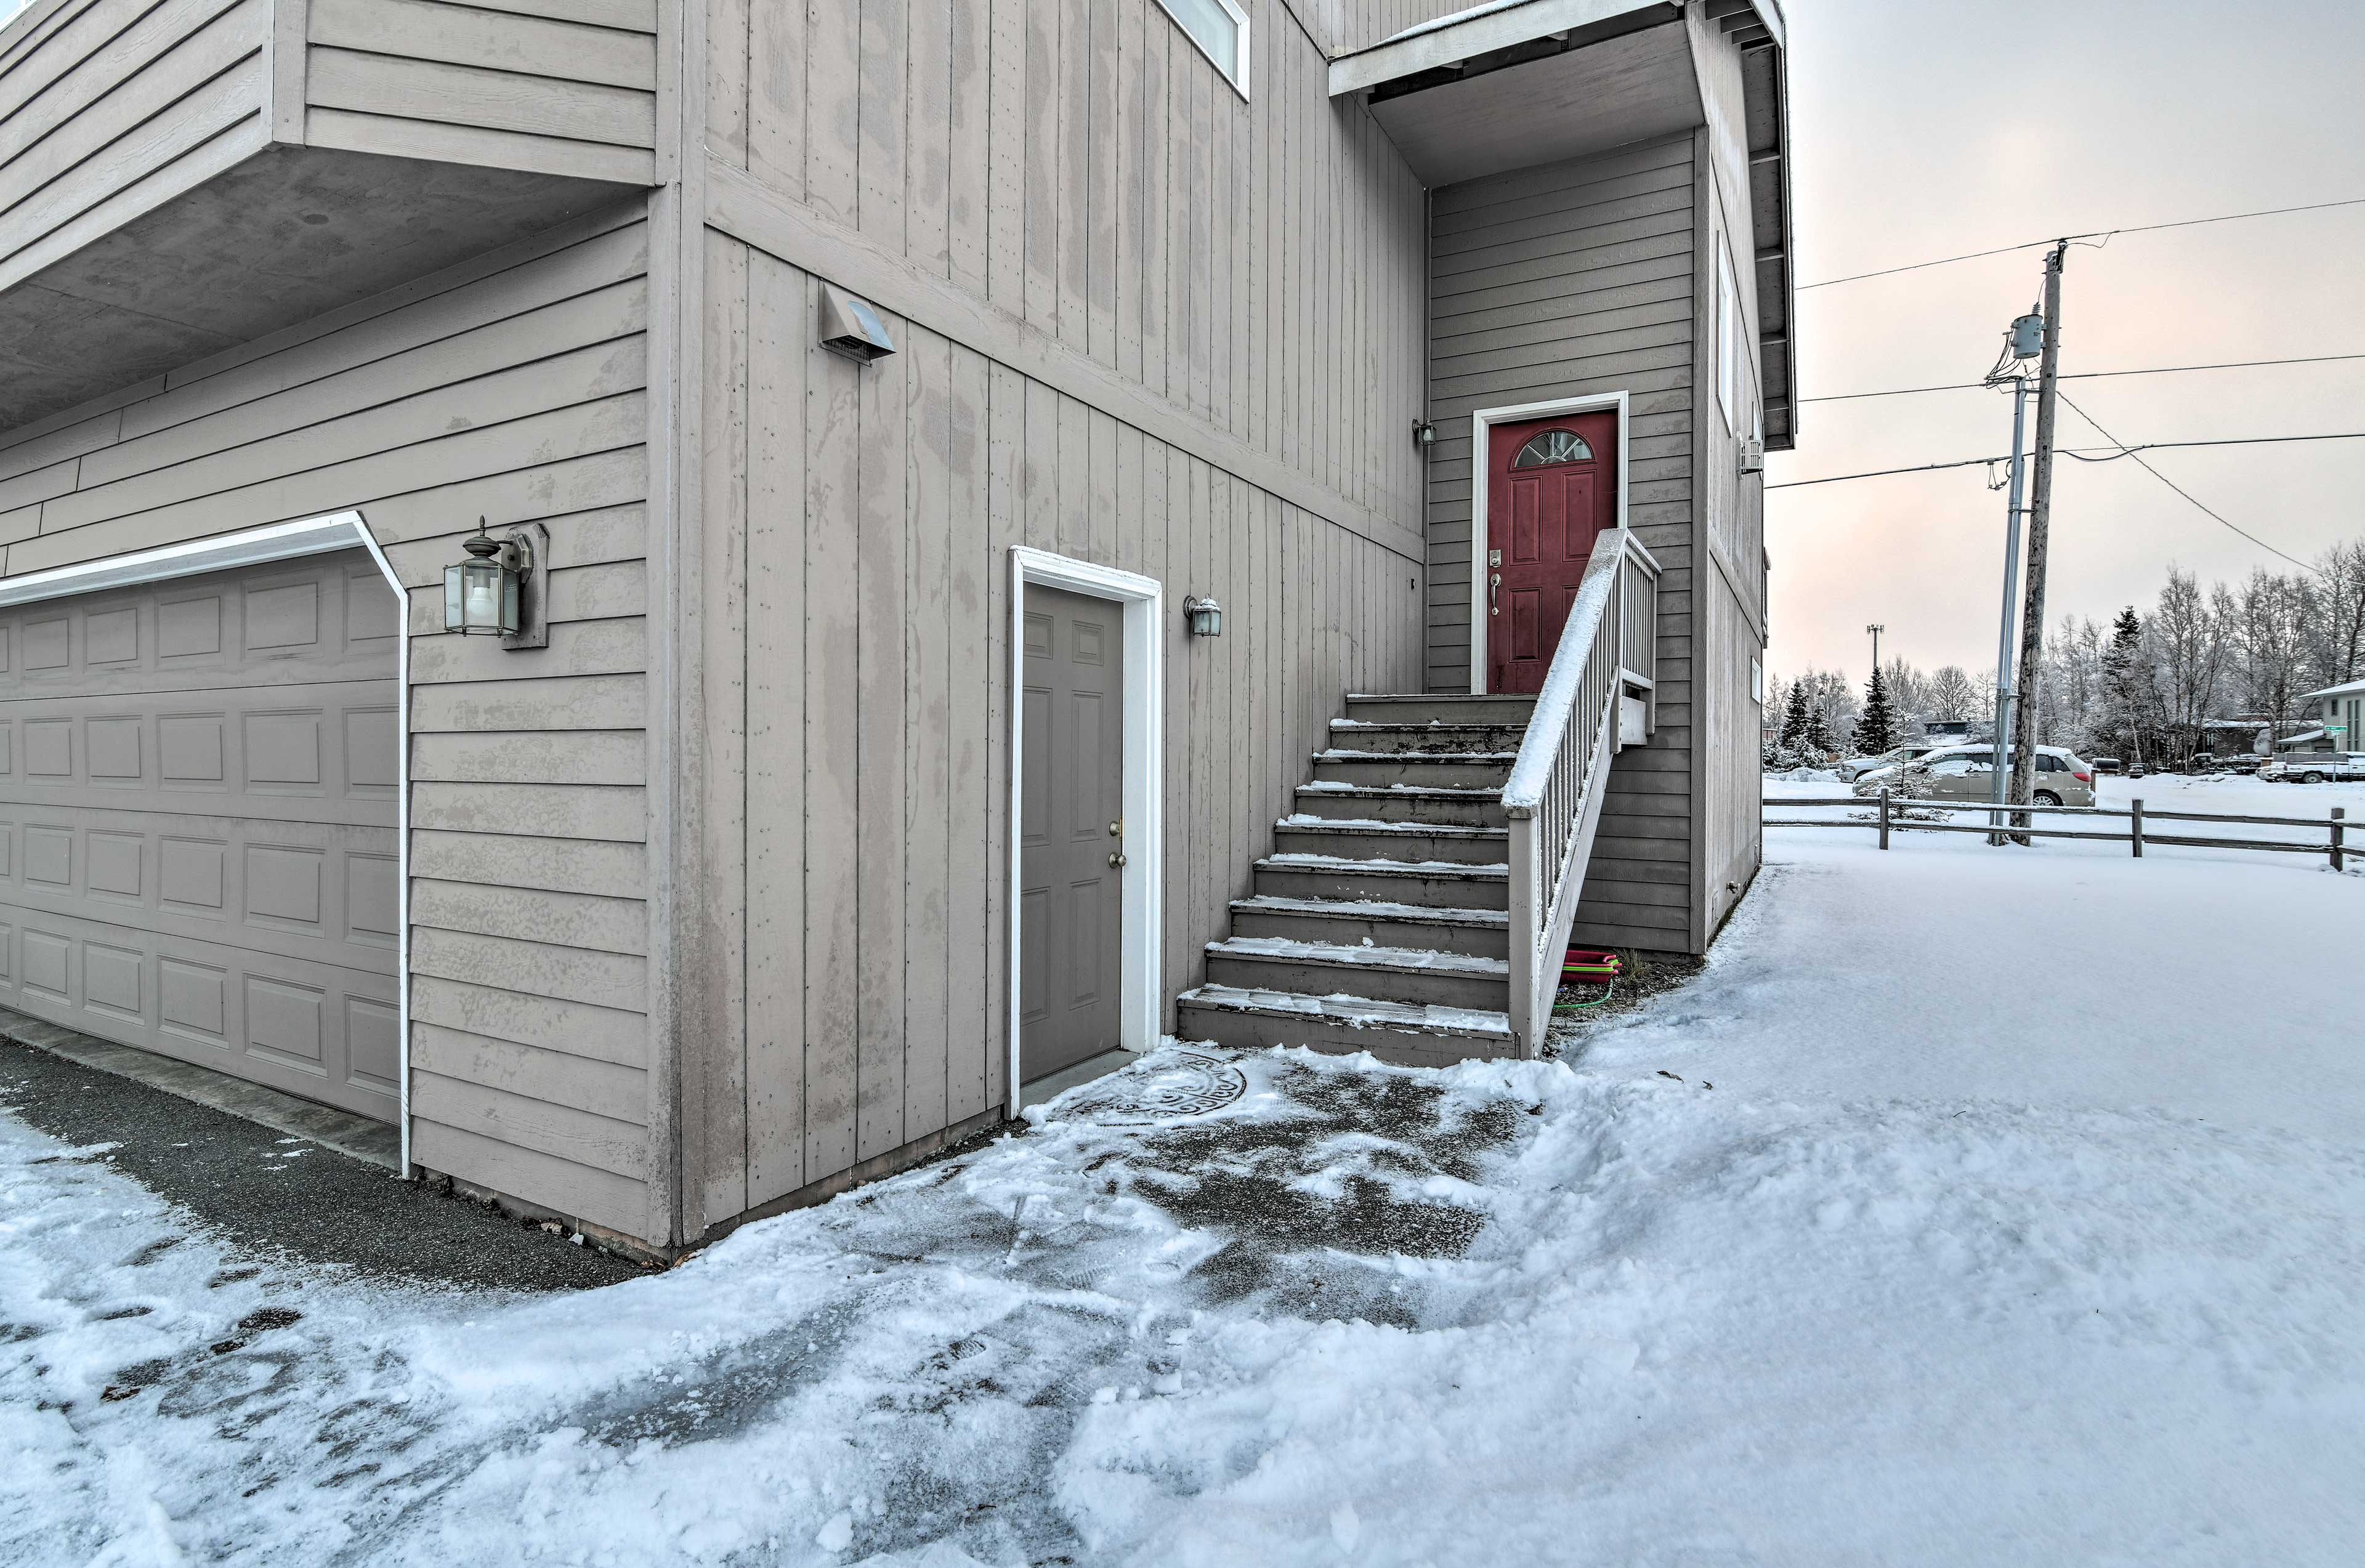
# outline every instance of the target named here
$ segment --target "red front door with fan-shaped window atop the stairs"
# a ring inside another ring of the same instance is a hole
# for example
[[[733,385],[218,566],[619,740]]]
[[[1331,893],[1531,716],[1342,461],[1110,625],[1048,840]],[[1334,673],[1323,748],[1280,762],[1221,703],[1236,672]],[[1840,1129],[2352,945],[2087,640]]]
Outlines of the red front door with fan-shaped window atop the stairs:
[[[1485,480],[1488,691],[1544,688],[1568,605],[1618,525],[1618,414],[1492,426]]]

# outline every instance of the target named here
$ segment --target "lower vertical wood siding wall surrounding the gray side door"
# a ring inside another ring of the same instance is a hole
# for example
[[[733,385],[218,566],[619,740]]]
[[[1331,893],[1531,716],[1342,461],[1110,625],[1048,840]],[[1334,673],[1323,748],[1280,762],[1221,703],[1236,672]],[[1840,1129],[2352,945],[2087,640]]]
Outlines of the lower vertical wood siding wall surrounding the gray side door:
[[[1419,676],[1402,556],[915,322],[832,357],[818,289],[707,234],[693,1232],[1007,1100],[1012,544],[1166,584],[1168,998],[1341,695]]]

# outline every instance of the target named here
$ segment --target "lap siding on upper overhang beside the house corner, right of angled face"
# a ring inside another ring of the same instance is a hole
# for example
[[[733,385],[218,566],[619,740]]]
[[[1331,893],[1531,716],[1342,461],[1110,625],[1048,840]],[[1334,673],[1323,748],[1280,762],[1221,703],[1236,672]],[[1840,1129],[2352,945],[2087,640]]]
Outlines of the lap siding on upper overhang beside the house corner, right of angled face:
[[[310,0],[315,147],[650,184],[657,0]]]

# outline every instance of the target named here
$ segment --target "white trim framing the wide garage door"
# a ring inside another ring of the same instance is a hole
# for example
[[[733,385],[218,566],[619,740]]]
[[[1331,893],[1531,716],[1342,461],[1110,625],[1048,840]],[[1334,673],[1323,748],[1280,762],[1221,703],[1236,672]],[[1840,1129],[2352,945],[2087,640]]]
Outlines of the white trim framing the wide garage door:
[[[293,523],[270,523],[246,527],[234,534],[166,544],[130,556],[106,556],[59,565],[47,572],[24,577],[0,577],[0,605],[21,605],[40,598],[64,598],[66,594],[97,594],[99,589],[137,587],[142,582],[166,582],[170,577],[196,577],[201,572],[225,572],[239,565],[265,561],[293,561],[296,556],[326,556],[331,551],[367,549],[378,563],[385,587],[395,591],[395,1076],[402,1130],[402,1173],[412,1171],[412,596],[395,575],[395,563],[385,558],[369,534],[369,523],[357,511],[331,511],[319,518]]]

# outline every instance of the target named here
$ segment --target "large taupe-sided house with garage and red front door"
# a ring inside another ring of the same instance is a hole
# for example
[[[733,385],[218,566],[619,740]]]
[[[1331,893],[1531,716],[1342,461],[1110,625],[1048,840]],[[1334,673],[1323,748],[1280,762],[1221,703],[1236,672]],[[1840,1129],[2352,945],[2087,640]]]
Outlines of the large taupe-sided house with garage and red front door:
[[[33,0],[0,1003],[669,1253],[1112,1045],[1528,1055],[1556,944],[1703,951],[1783,24],[1445,9]]]

